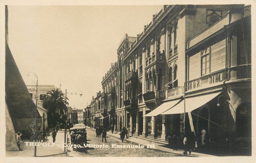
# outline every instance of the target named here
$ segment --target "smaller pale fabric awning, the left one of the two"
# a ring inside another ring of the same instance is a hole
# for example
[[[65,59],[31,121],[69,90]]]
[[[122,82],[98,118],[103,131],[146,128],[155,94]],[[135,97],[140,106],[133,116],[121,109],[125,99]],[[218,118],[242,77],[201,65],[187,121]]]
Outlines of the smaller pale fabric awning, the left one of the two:
[[[164,102],[163,104],[161,104],[156,109],[154,109],[153,111],[149,112],[148,114],[144,115],[143,117],[157,116],[157,115],[165,112],[166,110],[169,110],[174,105],[178,104],[180,101],[181,101],[181,99]]]

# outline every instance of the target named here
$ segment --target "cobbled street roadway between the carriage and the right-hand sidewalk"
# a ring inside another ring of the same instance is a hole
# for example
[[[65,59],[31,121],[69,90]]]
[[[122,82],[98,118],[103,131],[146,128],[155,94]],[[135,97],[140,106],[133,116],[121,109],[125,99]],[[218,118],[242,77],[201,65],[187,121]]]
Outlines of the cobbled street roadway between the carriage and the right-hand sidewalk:
[[[122,143],[122,141],[116,137],[107,135],[107,143],[102,143],[101,137],[96,137],[93,130],[87,129],[87,140],[90,144],[108,145],[109,148],[80,148],[78,151],[73,151],[72,148],[68,148],[68,157],[175,157],[180,156],[178,154],[172,154],[169,152],[151,150],[151,149],[134,149],[134,148],[111,148],[111,144],[116,145],[134,145],[130,143]],[[60,157],[60,156],[59,156]]]

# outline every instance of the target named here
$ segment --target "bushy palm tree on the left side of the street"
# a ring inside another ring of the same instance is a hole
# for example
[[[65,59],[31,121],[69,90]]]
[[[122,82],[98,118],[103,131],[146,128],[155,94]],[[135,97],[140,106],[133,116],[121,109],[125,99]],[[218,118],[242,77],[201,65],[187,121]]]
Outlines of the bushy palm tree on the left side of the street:
[[[47,109],[47,119],[49,125],[56,125],[60,119],[60,114],[64,114],[66,110],[66,98],[61,90],[52,89],[46,93],[43,100],[43,107]],[[67,101],[68,106],[68,101]]]

